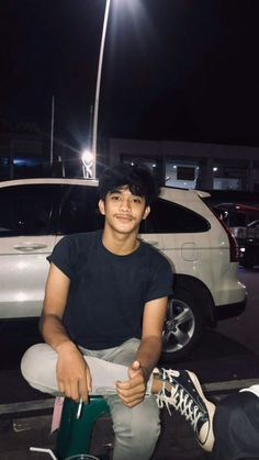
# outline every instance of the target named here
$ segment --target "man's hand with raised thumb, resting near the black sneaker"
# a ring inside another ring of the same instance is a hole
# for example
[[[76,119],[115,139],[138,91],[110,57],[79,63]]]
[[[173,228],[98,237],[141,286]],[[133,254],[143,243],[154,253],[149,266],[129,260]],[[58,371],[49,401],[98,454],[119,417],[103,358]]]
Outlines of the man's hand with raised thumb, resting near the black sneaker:
[[[146,372],[138,361],[134,361],[128,368],[130,379],[126,382],[117,382],[117,394],[127,407],[134,407],[142,403],[146,392]]]

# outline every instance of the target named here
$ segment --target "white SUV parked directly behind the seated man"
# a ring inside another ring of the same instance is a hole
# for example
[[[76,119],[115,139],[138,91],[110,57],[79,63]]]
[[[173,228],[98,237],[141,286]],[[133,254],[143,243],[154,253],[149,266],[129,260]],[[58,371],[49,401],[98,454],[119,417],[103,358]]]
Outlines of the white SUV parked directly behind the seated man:
[[[140,237],[171,261],[173,298],[164,329],[164,357],[187,355],[204,325],[239,313],[246,288],[237,279],[237,245],[205,204],[207,193],[162,188]],[[22,179],[0,182],[0,319],[41,314],[46,257],[64,235],[103,224],[97,181]],[[100,318],[101,319],[101,318]]]

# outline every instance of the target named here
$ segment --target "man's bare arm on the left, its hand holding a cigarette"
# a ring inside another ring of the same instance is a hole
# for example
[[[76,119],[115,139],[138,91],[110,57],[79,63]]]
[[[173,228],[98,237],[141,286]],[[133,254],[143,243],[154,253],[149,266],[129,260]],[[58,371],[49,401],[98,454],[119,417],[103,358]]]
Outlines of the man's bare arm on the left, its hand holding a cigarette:
[[[69,285],[69,278],[52,263],[40,328],[45,341],[57,352],[56,378],[60,392],[72,400],[78,401],[82,397],[87,402],[91,391],[89,368],[63,325]]]

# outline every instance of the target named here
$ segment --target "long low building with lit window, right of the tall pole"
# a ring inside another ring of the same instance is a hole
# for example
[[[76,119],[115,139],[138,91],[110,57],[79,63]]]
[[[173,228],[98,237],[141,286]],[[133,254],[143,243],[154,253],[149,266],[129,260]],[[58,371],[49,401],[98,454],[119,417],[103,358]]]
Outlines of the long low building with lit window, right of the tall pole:
[[[259,147],[111,138],[105,156],[145,162],[171,187],[259,191]]]

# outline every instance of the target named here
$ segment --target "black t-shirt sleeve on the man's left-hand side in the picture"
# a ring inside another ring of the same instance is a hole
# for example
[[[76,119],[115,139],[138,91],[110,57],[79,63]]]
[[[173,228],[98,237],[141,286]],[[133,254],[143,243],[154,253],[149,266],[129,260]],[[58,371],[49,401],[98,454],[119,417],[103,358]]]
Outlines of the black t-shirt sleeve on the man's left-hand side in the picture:
[[[65,236],[56,244],[50,256],[47,257],[47,260],[59,268],[68,278],[71,278],[74,271],[74,246],[72,238],[70,238],[70,236]]]

